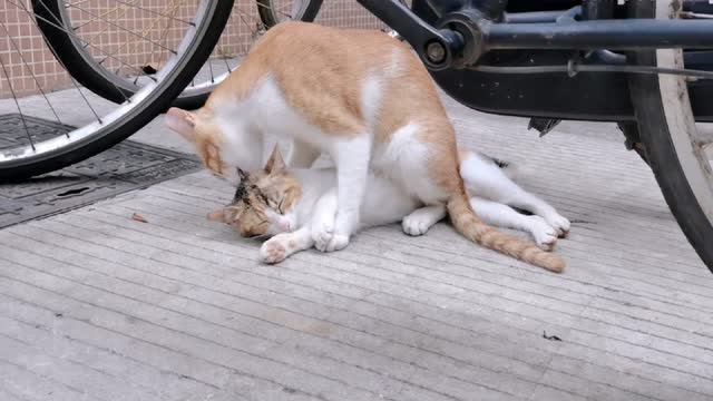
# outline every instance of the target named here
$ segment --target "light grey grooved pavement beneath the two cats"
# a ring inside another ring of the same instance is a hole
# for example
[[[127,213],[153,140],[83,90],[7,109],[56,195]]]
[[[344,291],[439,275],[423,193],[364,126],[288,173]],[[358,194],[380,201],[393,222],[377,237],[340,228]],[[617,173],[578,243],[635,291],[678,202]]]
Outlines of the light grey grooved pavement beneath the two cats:
[[[0,400],[713,400],[713,275],[615,128],[448,107],[573,219],[564,274],[445,223],[264,266],[201,172],[0,231]]]

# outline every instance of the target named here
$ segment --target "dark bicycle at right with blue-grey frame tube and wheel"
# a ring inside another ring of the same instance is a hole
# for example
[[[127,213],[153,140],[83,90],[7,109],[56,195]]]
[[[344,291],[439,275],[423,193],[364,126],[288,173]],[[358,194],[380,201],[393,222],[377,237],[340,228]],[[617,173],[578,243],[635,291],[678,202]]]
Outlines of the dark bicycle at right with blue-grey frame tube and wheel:
[[[543,133],[561,119],[618,123],[713,272],[713,131],[700,126],[713,121],[712,3],[358,1],[470,108],[530,117]]]

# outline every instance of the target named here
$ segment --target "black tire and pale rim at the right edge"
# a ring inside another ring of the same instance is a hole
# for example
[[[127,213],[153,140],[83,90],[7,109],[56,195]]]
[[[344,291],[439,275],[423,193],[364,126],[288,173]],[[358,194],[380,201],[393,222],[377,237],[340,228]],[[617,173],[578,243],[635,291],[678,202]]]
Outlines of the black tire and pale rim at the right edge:
[[[668,2],[632,2],[632,17],[662,18],[663,12],[667,12],[664,10],[668,10]],[[678,50],[642,50],[633,56],[639,65],[671,67],[665,51]],[[678,56],[682,62],[680,52]],[[678,80],[677,85],[670,85],[672,79]],[[713,211],[710,203],[702,204],[700,195],[696,195],[702,189],[691,183],[694,177],[686,164],[686,157],[691,156],[683,150],[686,144],[678,140],[682,134],[688,135],[683,130],[695,129],[685,81],[680,77],[632,75],[629,89],[639,136],[664,198],[684,235],[713,273]],[[672,113],[678,113],[681,118],[671,118]],[[705,174],[705,167],[702,168],[702,174]]]

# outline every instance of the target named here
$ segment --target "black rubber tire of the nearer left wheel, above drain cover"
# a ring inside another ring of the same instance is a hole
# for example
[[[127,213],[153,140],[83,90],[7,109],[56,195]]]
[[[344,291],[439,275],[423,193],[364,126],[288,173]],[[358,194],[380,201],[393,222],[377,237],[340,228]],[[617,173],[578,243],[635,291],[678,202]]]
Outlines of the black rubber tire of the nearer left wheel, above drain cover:
[[[43,154],[41,157],[0,164],[0,182],[21,180],[85,160],[134,135],[156,116],[168,109],[172,100],[191,82],[211,56],[213,47],[217,43],[227,23],[233,1],[215,1],[215,7],[207,12],[208,23],[202,28],[201,39],[196,38],[196,46],[186,50],[175,74],[169,74],[166,80],[162,81],[159,88],[141,101],[140,107],[131,109],[114,121],[100,136],[95,135],[85,140],[78,140],[70,146]]]

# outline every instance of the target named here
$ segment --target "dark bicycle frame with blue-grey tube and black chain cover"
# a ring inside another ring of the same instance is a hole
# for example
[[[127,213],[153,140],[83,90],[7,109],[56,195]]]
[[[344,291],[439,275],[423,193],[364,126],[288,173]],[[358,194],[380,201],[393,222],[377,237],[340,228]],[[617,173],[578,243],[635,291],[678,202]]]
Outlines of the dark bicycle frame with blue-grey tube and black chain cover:
[[[617,20],[625,16],[626,6],[615,0],[413,0],[411,9],[398,0],[358,1],[413,47],[446,92],[487,113],[634,119],[624,74],[512,75],[470,69],[476,65],[567,66],[585,51],[590,53],[586,62],[621,63],[624,55],[611,50],[685,48],[686,68],[713,69],[713,52],[693,51],[713,49],[713,21]],[[683,10],[713,12],[707,1],[677,4]],[[696,120],[713,121],[713,82],[691,82],[690,95]]]

